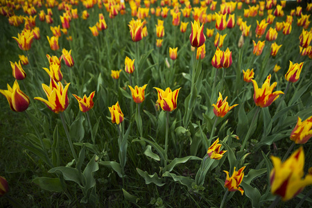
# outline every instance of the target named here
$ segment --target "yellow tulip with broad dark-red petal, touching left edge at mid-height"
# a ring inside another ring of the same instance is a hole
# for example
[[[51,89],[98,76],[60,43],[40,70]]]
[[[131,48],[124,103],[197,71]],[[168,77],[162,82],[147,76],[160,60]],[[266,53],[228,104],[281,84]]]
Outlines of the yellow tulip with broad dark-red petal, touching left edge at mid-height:
[[[29,106],[29,98],[19,89],[19,84],[15,80],[13,87],[8,86],[8,90],[0,89],[0,93],[6,96],[10,109],[15,112],[23,112]]]

